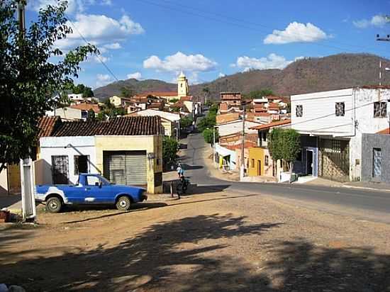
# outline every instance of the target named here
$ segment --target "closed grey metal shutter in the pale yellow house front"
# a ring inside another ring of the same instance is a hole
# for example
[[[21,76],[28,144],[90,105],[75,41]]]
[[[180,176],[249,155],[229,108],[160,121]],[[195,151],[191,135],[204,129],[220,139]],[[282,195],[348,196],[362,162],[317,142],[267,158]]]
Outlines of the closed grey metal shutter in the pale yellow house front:
[[[145,185],[146,152],[104,152],[104,176],[114,184]]]

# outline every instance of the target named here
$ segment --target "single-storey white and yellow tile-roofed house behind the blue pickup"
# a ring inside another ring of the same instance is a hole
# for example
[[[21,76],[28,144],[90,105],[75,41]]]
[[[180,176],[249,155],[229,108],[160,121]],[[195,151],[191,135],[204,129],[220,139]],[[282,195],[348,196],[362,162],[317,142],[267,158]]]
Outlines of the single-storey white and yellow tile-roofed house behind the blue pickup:
[[[89,172],[103,174],[116,184],[162,192],[160,117],[60,120],[52,129],[50,135],[40,137],[35,172],[41,177],[35,178],[37,184],[76,184],[79,173]]]

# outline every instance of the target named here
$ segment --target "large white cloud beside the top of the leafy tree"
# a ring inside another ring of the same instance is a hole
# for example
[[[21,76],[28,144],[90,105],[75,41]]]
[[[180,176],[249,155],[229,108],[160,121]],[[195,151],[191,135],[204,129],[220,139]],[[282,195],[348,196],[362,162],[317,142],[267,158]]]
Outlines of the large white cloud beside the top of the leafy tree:
[[[77,14],[76,21],[68,22],[67,25],[72,28],[73,33],[69,34],[66,39],[57,41],[57,46],[62,50],[84,45],[85,42],[81,35],[89,43],[106,49],[116,49],[121,47],[117,42],[145,31],[140,23],[135,23],[126,15],[116,20],[104,15]],[[116,43],[112,43],[113,41]]]

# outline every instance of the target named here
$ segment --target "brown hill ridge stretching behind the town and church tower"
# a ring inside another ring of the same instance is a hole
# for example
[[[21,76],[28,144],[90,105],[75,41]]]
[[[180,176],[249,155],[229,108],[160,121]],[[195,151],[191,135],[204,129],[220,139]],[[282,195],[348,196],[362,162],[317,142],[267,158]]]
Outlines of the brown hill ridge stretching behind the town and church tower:
[[[212,82],[190,86],[192,95],[210,90],[211,99],[219,99],[221,91],[241,91],[243,94],[260,89],[272,89],[275,94],[289,96],[313,91],[341,89],[350,86],[379,84],[379,61],[383,57],[370,54],[338,54],[327,57],[307,57],[292,62],[284,69],[250,70],[218,78]],[[383,69],[383,67],[382,67]],[[390,84],[390,73],[382,74],[382,84]],[[191,80],[189,80],[191,82]],[[135,92],[177,91],[177,84],[160,80],[128,79],[114,82],[94,90],[99,99],[121,94],[123,86],[131,86]]]

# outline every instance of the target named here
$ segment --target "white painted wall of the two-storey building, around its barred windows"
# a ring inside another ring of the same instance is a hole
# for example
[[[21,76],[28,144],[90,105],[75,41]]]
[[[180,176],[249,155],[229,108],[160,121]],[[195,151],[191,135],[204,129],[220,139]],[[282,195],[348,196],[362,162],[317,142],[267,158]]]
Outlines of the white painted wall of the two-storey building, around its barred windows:
[[[362,164],[362,134],[389,127],[387,118],[374,118],[374,102],[390,100],[390,89],[340,89],[291,96],[291,128],[300,133],[350,138],[350,179],[359,180]],[[335,103],[345,102],[345,116],[335,116]],[[296,117],[296,106],[303,116]],[[389,104],[387,105],[389,113]]]

